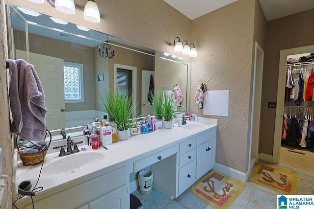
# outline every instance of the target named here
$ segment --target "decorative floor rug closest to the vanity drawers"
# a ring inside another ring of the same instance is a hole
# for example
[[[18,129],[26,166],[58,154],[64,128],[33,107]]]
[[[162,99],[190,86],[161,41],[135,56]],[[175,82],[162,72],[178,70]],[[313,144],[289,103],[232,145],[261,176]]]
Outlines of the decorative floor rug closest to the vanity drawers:
[[[217,171],[210,171],[188,190],[215,209],[228,209],[246,184]]]

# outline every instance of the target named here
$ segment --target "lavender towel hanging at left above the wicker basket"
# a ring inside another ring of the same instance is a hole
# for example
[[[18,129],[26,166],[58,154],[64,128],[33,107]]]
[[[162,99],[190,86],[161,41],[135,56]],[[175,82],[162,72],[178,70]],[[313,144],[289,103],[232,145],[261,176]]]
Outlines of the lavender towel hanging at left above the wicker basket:
[[[8,60],[10,79],[10,107],[13,121],[11,134],[22,139],[40,141],[46,131],[45,94],[34,66],[25,60]]]

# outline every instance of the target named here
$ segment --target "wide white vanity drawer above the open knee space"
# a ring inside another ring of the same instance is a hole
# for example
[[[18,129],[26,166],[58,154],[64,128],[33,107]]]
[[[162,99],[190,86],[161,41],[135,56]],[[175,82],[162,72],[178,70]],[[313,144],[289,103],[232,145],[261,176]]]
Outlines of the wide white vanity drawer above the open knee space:
[[[161,161],[175,153],[176,153],[176,146],[172,146],[172,147],[169,147],[168,149],[162,150],[153,155],[142,158],[141,160],[135,161],[133,163],[133,172],[139,171],[140,169],[144,167],[157,163],[158,161]]]

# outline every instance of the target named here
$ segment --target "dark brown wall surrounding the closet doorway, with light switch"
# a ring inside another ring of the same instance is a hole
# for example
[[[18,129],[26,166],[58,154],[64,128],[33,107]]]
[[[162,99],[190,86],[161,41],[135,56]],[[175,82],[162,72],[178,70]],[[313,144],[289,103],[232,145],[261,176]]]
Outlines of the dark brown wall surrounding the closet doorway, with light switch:
[[[267,102],[277,101],[277,82],[280,50],[314,45],[314,9],[283,17],[267,23],[264,57],[260,152],[272,155],[276,109],[268,109]]]

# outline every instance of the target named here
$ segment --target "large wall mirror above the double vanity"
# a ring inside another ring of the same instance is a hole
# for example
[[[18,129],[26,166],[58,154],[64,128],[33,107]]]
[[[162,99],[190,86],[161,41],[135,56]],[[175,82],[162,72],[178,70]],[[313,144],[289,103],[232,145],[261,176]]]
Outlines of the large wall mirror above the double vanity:
[[[44,87],[50,130],[102,119],[105,110],[99,101],[104,88],[130,90],[137,104],[133,117],[153,115],[147,99],[151,77],[155,91],[172,91],[178,85],[184,96],[178,111],[188,109],[189,60],[166,57],[154,49],[15,5],[8,4],[8,20],[10,58],[34,65]],[[100,56],[102,46],[111,46],[114,57]]]

